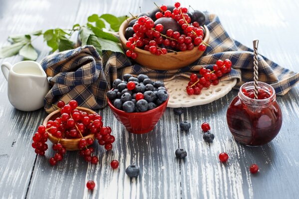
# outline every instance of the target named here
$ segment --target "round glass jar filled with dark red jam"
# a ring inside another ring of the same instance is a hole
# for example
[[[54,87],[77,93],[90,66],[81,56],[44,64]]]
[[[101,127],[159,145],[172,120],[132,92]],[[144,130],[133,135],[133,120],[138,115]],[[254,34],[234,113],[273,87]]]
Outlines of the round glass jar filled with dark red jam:
[[[234,138],[249,146],[259,146],[273,140],[283,122],[273,87],[259,82],[258,88],[258,99],[255,99],[254,82],[242,85],[226,114]]]

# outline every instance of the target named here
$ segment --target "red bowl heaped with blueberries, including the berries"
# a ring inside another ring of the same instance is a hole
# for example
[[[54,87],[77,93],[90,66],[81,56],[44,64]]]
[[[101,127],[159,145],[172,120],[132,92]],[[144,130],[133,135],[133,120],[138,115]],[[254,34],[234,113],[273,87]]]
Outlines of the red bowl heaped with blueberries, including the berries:
[[[113,89],[106,96],[117,120],[136,134],[153,130],[169,100],[164,83],[153,81],[144,74],[137,77],[124,74],[123,80],[114,80]]]

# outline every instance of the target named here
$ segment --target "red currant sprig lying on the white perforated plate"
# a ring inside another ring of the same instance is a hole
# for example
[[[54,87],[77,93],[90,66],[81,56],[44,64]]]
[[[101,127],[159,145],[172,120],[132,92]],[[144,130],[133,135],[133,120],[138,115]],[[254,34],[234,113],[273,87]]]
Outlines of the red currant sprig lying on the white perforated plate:
[[[190,76],[190,82],[186,87],[188,95],[199,95],[201,90],[205,87],[210,87],[211,84],[218,85],[219,80],[223,74],[229,73],[232,69],[232,62],[229,59],[224,61],[218,60],[216,65],[213,66],[213,71],[206,68],[201,68],[199,74],[201,77],[197,77],[195,73]]]

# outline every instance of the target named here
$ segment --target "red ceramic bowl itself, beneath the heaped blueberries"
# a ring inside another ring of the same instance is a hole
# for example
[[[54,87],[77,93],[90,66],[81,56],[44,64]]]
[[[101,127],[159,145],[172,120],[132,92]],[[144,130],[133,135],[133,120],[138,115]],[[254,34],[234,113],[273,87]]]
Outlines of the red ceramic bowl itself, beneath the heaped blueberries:
[[[165,112],[168,100],[169,96],[168,99],[158,107],[145,112],[125,112],[123,110],[119,110],[114,107],[109,99],[108,105],[110,106],[116,119],[121,122],[129,132],[142,134],[153,130]]]

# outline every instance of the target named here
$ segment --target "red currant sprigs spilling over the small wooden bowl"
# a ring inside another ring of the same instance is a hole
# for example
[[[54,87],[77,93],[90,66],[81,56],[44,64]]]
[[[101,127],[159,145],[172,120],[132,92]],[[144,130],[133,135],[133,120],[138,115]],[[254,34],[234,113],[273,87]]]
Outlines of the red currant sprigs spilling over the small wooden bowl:
[[[93,144],[92,138],[84,139],[83,136],[88,134],[95,134],[96,139],[100,145],[105,145],[106,150],[112,149],[112,143],[115,138],[111,134],[111,128],[109,126],[103,126],[102,117],[97,113],[88,114],[85,111],[76,109],[78,106],[77,101],[71,100],[68,104],[63,101],[57,103],[57,107],[60,109],[60,116],[55,120],[48,120],[46,126],[40,125],[37,132],[33,136],[32,147],[35,149],[35,153],[44,155],[48,146],[45,143],[48,138],[48,133],[53,136],[66,139],[81,138],[78,148],[80,149],[80,155],[84,156],[87,162],[92,164],[98,163],[96,156],[91,156],[94,151],[93,148],[87,148],[88,145]],[[63,159],[65,154],[65,147],[59,143],[52,146],[53,150],[57,153],[54,157],[50,158],[51,165],[56,165],[58,161]]]

